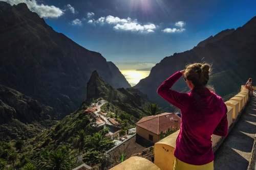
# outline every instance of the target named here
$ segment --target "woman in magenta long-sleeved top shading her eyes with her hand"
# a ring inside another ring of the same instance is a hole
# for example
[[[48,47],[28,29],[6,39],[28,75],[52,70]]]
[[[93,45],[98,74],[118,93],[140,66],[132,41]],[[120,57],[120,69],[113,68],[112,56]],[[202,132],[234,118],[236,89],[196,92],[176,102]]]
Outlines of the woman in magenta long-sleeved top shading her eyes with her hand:
[[[226,136],[227,107],[220,96],[210,91],[210,65],[195,63],[176,72],[157,89],[158,94],[181,110],[181,128],[176,140],[175,170],[214,169],[211,135]],[[190,93],[170,89],[184,75]]]

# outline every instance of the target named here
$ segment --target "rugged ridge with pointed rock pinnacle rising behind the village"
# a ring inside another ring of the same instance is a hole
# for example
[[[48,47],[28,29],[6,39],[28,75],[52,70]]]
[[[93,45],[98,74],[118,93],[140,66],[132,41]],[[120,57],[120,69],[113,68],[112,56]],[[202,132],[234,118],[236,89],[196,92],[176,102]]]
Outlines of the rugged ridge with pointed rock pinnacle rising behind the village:
[[[87,101],[98,98],[103,98],[136,118],[140,118],[145,114],[143,107],[149,101],[147,95],[138,89],[114,89],[110,84],[105,84],[95,70],[87,83]]]

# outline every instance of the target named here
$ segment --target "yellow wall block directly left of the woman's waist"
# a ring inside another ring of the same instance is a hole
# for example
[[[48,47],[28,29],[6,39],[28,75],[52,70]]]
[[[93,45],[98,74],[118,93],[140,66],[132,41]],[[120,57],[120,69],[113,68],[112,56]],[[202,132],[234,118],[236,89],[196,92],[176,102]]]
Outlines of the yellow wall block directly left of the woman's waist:
[[[179,133],[180,131],[177,131],[155,143],[155,164],[161,170],[174,169],[174,149],[176,147],[176,139]]]

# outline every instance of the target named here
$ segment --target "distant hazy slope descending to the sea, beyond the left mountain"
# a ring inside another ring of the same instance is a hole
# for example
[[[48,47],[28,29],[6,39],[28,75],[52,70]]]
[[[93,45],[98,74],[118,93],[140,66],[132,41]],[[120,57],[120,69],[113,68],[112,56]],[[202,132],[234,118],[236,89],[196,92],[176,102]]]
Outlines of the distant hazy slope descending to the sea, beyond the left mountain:
[[[107,63],[109,65],[109,67],[110,67],[110,70],[113,72],[113,83],[114,83],[113,87],[115,87],[115,88],[119,88],[119,87],[128,88],[128,87],[131,87],[131,85],[127,82],[127,80],[122,75],[122,73],[117,68],[117,66],[113,62],[111,62],[111,61],[108,61]]]

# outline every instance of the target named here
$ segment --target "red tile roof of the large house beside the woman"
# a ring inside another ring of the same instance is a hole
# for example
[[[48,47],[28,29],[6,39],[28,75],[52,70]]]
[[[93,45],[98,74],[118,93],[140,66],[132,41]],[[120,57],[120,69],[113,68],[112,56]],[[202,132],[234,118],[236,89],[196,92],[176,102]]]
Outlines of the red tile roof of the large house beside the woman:
[[[137,126],[160,135],[161,132],[165,133],[168,129],[173,126],[174,120],[178,119],[178,127],[181,124],[181,118],[174,113],[161,113],[155,116],[146,116],[136,123]]]

